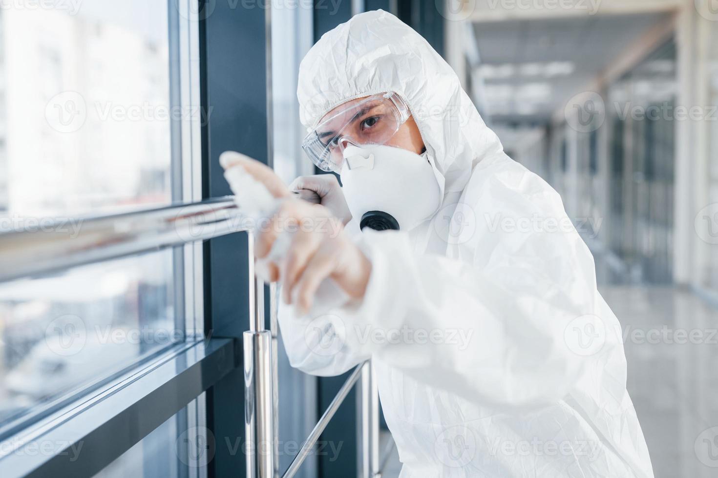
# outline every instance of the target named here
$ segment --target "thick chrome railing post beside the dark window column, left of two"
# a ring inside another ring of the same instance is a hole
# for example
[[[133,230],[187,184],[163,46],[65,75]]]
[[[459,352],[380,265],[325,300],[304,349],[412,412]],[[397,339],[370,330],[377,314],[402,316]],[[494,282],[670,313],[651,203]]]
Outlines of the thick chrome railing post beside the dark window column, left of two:
[[[254,239],[248,234],[249,330],[244,343],[244,426],[246,476],[274,478],[276,435],[274,428],[274,356],[271,332],[264,326],[264,282],[254,272]]]

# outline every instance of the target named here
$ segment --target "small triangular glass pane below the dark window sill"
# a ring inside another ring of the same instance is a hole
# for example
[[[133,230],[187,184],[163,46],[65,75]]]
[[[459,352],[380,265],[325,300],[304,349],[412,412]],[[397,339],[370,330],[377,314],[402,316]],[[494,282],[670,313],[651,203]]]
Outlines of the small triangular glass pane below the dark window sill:
[[[121,457],[109,464],[95,478],[180,478],[189,476],[192,459],[187,459],[187,446],[195,439],[201,439],[195,431],[206,431],[203,427],[187,427],[187,409],[182,408],[151,434],[139,441]],[[192,436],[190,436],[192,434]],[[202,449],[202,452],[205,452]],[[200,463],[200,462],[197,462]],[[202,465],[206,464],[206,461]]]

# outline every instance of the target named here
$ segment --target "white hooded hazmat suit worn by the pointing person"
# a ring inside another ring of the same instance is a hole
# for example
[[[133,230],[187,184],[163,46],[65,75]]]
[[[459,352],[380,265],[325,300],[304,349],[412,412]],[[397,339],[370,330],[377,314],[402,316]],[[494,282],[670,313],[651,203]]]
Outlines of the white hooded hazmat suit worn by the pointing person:
[[[439,54],[391,14],[354,16],[302,61],[302,123],[387,91],[409,105],[443,202],[412,231],[358,235],[373,267],[360,302],[280,310],[292,365],[333,376],[372,359],[403,478],[653,477],[592,255]]]

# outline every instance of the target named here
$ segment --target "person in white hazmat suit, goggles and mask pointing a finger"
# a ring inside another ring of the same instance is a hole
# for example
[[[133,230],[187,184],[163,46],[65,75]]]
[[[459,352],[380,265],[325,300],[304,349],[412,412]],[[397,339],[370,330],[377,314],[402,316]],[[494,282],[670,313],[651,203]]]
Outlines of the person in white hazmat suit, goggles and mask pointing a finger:
[[[282,199],[275,225],[315,225],[262,264],[294,305],[279,315],[292,365],[332,376],[372,359],[404,478],[653,477],[589,249],[439,54],[391,14],[360,14],[312,47],[297,95],[304,150],[343,188],[299,178],[316,206],[223,161]],[[317,315],[327,278],[344,299]]]

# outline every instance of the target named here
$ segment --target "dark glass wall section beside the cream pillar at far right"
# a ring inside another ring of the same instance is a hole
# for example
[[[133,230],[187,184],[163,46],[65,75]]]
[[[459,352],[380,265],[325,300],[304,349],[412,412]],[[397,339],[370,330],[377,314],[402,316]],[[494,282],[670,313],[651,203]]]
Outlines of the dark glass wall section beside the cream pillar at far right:
[[[610,248],[632,282],[673,279],[676,45],[658,48],[607,92]]]

